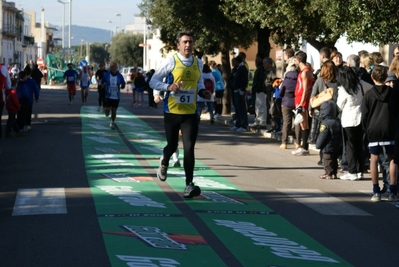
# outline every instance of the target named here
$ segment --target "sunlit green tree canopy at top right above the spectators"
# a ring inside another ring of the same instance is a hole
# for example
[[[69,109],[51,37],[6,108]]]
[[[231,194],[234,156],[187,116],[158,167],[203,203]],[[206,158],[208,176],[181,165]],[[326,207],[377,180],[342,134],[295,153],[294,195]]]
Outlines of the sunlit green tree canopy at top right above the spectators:
[[[316,49],[348,41],[387,44],[397,42],[397,0],[222,0],[230,19],[269,29],[280,45],[298,44],[301,39]],[[228,13],[230,11],[230,13]]]

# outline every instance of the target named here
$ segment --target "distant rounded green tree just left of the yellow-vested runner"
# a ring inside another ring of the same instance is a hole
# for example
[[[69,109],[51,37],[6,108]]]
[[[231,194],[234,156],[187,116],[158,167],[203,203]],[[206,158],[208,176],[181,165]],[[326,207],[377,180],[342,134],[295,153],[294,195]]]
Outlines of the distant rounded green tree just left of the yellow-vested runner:
[[[143,48],[139,44],[143,43],[142,34],[118,33],[112,37],[109,48],[110,60],[119,65],[142,66]]]

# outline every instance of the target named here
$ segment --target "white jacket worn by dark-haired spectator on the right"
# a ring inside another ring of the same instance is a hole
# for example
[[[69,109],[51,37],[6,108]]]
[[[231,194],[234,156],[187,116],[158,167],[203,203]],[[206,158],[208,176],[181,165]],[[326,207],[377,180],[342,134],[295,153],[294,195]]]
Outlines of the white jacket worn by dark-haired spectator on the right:
[[[338,86],[337,106],[341,112],[341,125],[344,128],[358,126],[362,120],[363,93],[360,85],[358,88],[357,94],[350,95],[342,86]]]

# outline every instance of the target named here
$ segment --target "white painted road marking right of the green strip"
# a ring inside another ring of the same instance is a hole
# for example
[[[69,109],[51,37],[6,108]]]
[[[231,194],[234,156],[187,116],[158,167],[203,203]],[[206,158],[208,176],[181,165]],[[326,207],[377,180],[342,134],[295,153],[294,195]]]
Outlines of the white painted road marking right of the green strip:
[[[318,189],[276,189],[322,215],[372,216]]]

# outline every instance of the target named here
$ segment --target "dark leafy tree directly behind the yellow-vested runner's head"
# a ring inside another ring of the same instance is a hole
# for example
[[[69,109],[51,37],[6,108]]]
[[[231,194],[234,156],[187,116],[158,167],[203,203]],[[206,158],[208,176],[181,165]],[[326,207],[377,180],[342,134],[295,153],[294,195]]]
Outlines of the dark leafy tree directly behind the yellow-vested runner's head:
[[[227,19],[220,8],[220,0],[144,0],[140,9],[153,28],[161,29],[161,40],[165,49],[175,48],[176,34],[180,30],[191,30],[196,35],[195,49],[202,54],[221,53],[223,77],[230,75],[230,52],[233,48],[249,47],[256,31]],[[230,113],[230,90],[225,90],[223,113]]]

